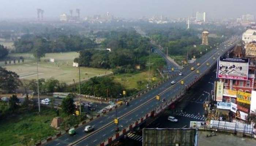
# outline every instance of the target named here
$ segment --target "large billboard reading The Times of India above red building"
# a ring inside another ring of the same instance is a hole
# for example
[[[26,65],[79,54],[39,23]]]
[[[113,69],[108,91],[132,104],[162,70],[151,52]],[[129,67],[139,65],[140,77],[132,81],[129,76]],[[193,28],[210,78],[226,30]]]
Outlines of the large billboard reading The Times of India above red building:
[[[217,77],[233,80],[248,80],[249,59],[220,57]]]

